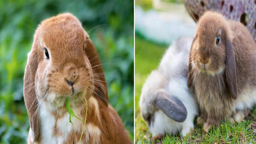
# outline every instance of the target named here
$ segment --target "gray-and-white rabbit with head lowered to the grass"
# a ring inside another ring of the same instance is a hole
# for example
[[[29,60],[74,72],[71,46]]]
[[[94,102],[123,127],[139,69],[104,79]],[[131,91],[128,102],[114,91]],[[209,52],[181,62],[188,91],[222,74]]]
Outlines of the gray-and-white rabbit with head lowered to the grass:
[[[194,93],[187,86],[191,43],[188,37],[175,41],[142,87],[139,104],[152,139],[180,131],[186,136],[194,128],[199,112]]]

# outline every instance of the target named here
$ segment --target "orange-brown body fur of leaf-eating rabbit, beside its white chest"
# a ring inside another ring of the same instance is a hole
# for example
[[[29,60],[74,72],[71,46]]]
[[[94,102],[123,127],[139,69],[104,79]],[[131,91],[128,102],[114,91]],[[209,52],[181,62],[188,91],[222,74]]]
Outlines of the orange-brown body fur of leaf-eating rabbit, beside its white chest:
[[[109,105],[106,107],[101,100],[97,100],[99,102],[99,110],[100,110],[100,117],[101,121],[99,121],[97,116],[95,115],[95,109],[92,105],[88,104],[88,112],[87,112],[87,124],[94,124],[98,126],[101,130],[100,135],[100,143],[131,143],[128,132],[123,128],[119,128],[122,124],[121,119],[117,115],[116,111]],[[108,111],[106,111],[106,108],[108,108]],[[85,116],[85,107],[83,111],[81,111],[81,116]],[[111,123],[106,123],[111,122]],[[81,122],[82,123],[82,122]],[[79,132],[73,132],[68,135],[68,139],[65,143],[78,143],[81,131]],[[86,129],[85,129],[86,132]],[[82,137],[82,143],[95,143],[95,140],[93,138],[89,139],[89,141],[85,140],[85,134]]]

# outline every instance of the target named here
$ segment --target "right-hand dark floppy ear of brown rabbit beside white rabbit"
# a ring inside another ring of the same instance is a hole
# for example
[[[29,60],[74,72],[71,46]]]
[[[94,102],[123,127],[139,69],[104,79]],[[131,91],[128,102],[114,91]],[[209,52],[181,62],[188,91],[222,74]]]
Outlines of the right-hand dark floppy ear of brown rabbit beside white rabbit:
[[[233,99],[237,98],[236,59],[230,39],[226,39],[226,80],[228,89]]]

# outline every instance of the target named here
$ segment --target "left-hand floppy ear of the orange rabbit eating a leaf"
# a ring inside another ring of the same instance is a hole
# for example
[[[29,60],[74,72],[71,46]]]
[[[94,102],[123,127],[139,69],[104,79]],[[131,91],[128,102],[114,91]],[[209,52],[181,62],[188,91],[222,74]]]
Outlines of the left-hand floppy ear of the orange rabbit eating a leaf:
[[[36,99],[35,76],[38,66],[37,44],[33,43],[31,52],[28,53],[28,62],[25,68],[23,95],[28,111],[31,129],[31,141],[38,140],[38,101]]]

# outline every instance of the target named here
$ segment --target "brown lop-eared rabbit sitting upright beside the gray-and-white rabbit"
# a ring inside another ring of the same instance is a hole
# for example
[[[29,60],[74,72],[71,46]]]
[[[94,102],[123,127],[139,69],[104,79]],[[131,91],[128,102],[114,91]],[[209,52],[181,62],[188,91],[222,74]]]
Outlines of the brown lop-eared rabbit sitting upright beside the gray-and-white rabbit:
[[[189,54],[188,86],[194,88],[207,132],[224,119],[239,122],[256,103],[256,44],[240,22],[206,12]]]

